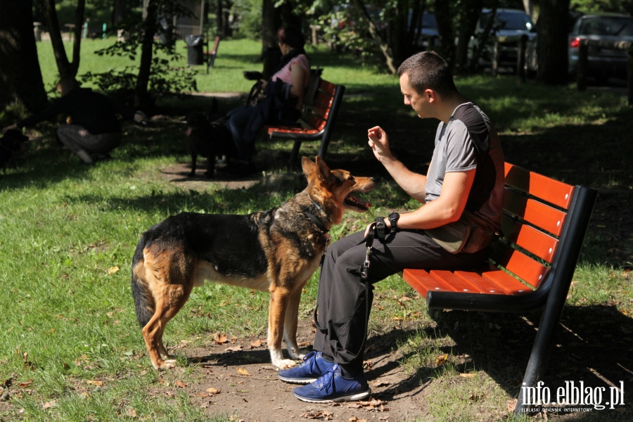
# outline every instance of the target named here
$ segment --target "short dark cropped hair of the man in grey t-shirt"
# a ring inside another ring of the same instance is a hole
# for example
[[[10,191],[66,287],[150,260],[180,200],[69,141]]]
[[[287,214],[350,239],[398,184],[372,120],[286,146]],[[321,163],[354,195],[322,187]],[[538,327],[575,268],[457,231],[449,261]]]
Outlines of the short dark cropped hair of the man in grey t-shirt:
[[[453,75],[446,61],[435,51],[422,51],[402,62],[398,68],[398,77],[409,75],[409,85],[418,94],[426,89],[447,96],[457,92]]]

